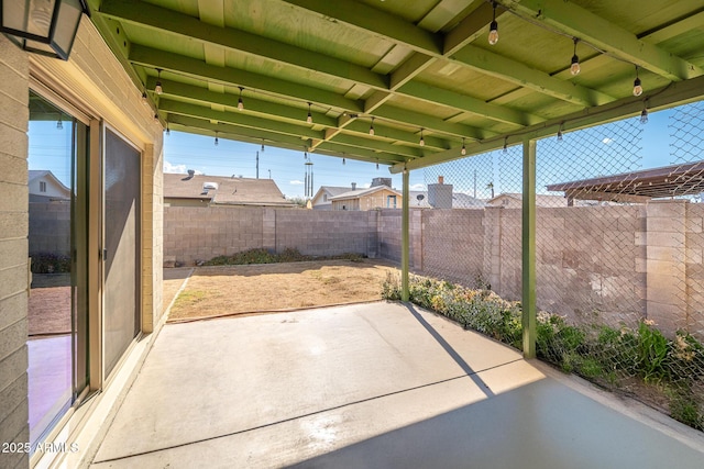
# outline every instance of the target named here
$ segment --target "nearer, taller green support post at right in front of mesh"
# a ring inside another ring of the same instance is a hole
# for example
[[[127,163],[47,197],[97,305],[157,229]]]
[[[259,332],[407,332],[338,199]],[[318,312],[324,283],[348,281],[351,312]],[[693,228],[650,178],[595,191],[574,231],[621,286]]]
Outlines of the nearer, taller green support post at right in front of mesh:
[[[524,357],[536,357],[536,141],[524,141],[522,197]]]

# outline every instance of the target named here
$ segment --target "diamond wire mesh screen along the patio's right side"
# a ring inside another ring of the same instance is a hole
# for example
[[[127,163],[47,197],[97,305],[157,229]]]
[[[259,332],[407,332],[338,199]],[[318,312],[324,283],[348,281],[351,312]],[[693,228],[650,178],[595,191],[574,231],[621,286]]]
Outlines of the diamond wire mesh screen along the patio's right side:
[[[704,429],[704,103],[649,118],[537,143],[537,351]],[[433,287],[430,304],[516,345],[521,146],[425,180],[451,187],[452,205],[422,210],[416,270],[485,292]]]

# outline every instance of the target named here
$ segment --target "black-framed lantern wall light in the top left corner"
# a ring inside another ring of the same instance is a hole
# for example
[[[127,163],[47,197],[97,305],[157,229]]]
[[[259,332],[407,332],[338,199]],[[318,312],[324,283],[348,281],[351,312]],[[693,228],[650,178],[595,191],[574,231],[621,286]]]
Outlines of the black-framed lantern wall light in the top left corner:
[[[85,0],[0,0],[0,32],[25,51],[68,60]]]

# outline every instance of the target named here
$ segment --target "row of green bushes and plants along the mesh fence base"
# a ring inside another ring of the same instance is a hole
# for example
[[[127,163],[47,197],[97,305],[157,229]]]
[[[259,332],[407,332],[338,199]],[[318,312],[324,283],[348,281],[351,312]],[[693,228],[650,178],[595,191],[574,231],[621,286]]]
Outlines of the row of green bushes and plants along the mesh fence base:
[[[470,289],[444,280],[410,276],[410,301],[521,349],[521,306],[491,290]],[[382,288],[386,300],[400,300],[400,281],[389,275]],[[704,345],[685,332],[668,339],[648,320],[637,327],[600,322],[570,324],[565,317],[539,312],[538,357],[564,372],[627,393],[673,418],[704,431]]]

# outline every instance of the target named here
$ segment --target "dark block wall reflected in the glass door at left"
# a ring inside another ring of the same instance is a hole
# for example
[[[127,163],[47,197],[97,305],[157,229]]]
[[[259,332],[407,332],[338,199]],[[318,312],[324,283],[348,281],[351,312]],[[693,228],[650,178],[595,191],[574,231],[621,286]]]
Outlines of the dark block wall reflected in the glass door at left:
[[[30,256],[70,253],[70,203],[30,203]]]

